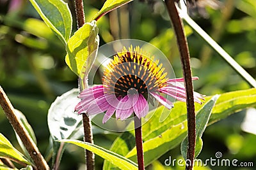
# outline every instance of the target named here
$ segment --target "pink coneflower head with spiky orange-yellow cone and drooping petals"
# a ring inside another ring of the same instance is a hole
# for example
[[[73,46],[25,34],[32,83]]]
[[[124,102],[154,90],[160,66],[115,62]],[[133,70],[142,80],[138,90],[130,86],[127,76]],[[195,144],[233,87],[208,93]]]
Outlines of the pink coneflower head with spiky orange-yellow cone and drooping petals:
[[[184,78],[168,79],[159,60],[154,62],[140,47],[125,48],[114,56],[108,64],[102,78],[103,85],[84,89],[75,108],[78,114],[96,115],[105,112],[102,123],[106,123],[114,113],[116,118],[124,120],[135,113],[138,118],[148,113],[148,102],[154,99],[166,108],[173,108],[173,103],[160,93],[186,102]],[[193,77],[193,80],[197,80]],[[194,92],[195,102],[204,100],[201,94]]]

